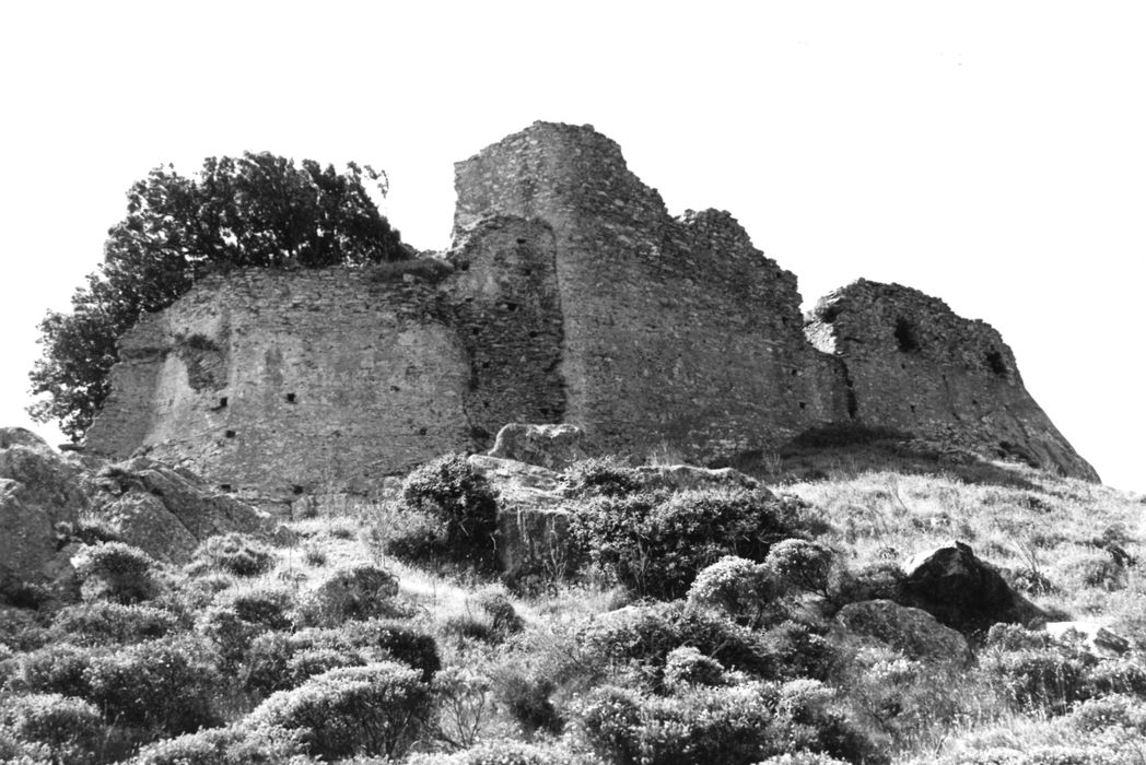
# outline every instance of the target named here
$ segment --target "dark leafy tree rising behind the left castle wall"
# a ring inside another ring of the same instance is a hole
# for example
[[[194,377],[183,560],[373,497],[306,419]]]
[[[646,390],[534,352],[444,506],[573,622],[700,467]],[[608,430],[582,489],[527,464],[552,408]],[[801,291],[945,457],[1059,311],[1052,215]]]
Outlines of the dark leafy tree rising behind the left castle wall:
[[[38,421],[79,440],[110,392],[116,342],[147,311],[170,306],[197,278],[230,268],[360,266],[408,258],[367,192],[385,175],[270,153],[214,157],[186,178],[157,167],[127,192],[103,263],[72,295],[72,313],[40,322],[42,355],[30,378]]]

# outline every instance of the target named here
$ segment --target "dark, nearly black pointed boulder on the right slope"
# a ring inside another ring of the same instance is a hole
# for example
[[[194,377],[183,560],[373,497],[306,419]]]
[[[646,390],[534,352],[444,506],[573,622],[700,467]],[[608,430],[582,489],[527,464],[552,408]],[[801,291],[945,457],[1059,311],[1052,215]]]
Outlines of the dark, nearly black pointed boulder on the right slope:
[[[904,563],[903,573],[908,605],[965,634],[998,622],[1031,624],[1045,618],[961,542],[916,554]]]

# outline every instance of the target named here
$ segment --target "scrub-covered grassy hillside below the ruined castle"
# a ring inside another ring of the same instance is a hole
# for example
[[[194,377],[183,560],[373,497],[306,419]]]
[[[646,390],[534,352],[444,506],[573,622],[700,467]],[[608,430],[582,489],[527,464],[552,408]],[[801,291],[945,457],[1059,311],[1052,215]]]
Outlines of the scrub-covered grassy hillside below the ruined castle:
[[[580,566],[528,591],[490,570],[490,487],[457,458],[397,506],[292,521],[291,546],[231,534],[174,568],[87,535],[72,596],[0,620],[0,759],[1143,762],[1141,499],[858,454],[776,475],[775,495],[574,465]],[[395,545],[411,507],[441,544]],[[1125,646],[999,624],[964,654],[841,628],[849,604],[894,596],[894,561],[952,537],[1052,618],[1101,620]]]

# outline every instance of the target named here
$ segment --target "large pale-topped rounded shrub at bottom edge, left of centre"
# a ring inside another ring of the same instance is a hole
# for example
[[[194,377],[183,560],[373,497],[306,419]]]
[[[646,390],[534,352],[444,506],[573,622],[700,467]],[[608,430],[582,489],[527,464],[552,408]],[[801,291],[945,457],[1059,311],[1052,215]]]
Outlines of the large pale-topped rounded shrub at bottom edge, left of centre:
[[[330,670],[298,688],[280,691],[251,712],[246,725],[299,731],[315,757],[399,757],[417,736],[431,705],[430,687],[417,670],[380,662]]]

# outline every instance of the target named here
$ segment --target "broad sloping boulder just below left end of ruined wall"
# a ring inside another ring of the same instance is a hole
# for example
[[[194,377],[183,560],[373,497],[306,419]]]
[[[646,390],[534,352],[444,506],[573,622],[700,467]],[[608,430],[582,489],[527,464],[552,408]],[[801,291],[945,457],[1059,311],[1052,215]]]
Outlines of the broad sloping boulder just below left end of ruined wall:
[[[290,536],[266,513],[190,471],[147,457],[109,465],[93,486],[99,513],[113,521],[124,542],[158,560],[185,562],[201,542],[230,531],[276,542]]]

